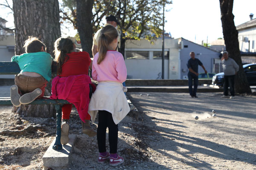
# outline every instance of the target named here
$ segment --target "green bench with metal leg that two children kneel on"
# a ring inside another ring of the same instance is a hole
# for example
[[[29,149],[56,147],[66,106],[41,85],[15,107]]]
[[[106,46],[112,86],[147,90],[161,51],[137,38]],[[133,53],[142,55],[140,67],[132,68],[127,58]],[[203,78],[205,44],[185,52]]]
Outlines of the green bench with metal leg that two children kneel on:
[[[0,62],[0,75],[10,75],[10,74],[19,74],[20,67],[16,62]],[[56,67],[52,67],[52,73],[56,73]],[[55,105],[56,110],[56,137],[55,144],[52,149],[61,150],[61,113],[62,105],[70,104],[67,100],[60,99],[49,99],[49,97],[44,97],[41,99],[35,99],[29,105]],[[10,97],[0,97],[0,105],[12,105]]]

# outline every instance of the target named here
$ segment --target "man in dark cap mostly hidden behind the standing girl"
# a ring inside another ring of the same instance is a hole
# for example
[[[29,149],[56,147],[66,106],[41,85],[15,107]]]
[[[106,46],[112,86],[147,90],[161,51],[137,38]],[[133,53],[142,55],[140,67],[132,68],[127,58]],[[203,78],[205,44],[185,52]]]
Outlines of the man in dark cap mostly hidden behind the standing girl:
[[[116,17],[113,16],[113,15],[110,15],[108,17],[106,17],[106,20],[107,20],[107,23],[104,25],[104,26],[107,26],[107,25],[111,25],[115,28],[117,28],[117,25],[119,25],[120,23],[116,20]],[[100,31],[102,30],[102,28],[100,28],[96,34],[94,34],[94,37],[93,37],[93,48],[92,48],[92,51],[93,51],[93,57],[94,55],[98,52],[98,42],[99,42],[99,36],[100,36]]]

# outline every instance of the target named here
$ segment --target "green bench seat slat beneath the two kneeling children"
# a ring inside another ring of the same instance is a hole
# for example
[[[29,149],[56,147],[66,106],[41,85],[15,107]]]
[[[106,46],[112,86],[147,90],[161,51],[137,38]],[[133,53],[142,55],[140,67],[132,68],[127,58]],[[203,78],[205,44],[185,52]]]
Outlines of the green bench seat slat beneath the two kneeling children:
[[[50,99],[49,97],[44,97],[41,99],[35,99],[33,102],[29,103],[29,105],[64,105],[64,104],[70,104],[67,100],[61,100],[61,99]],[[0,105],[12,105],[10,97],[0,97]]]

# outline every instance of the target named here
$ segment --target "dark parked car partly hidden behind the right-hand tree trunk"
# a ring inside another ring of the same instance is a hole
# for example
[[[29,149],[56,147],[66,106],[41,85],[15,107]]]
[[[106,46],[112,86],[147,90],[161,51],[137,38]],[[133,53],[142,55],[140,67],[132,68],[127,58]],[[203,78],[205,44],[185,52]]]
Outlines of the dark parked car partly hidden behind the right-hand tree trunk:
[[[243,65],[245,75],[249,82],[249,85],[256,85],[256,63]],[[223,86],[224,83],[224,73],[215,74],[212,77],[212,85]]]

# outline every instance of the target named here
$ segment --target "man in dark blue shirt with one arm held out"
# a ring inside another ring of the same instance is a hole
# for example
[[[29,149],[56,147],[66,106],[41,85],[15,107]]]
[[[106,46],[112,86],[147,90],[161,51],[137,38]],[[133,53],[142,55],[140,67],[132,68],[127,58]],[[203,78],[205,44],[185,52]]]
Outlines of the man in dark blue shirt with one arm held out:
[[[196,95],[197,87],[198,87],[198,65],[200,65],[203,69],[205,74],[207,74],[206,69],[204,68],[203,63],[195,58],[195,52],[191,51],[190,53],[191,59],[188,61],[188,68],[189,68],[189,73],[188,73],[188,78],[189,78],[189,94],[193,98],[198,98]],[[193,80],[194,80],[194,90],[192,88],[193,85]]]

